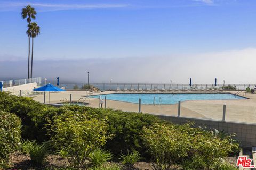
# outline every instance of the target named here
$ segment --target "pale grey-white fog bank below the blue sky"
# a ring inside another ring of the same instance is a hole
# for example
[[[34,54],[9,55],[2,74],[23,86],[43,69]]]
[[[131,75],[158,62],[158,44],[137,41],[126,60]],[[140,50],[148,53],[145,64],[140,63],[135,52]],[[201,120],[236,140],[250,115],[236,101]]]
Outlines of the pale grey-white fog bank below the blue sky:
[[[91,58],[76,60],[38,60],[34,77],[62,82],[113,83],[256,83],[256,49],[170,57]],[[26,78],[27,60],[0,55],[0,80]]]

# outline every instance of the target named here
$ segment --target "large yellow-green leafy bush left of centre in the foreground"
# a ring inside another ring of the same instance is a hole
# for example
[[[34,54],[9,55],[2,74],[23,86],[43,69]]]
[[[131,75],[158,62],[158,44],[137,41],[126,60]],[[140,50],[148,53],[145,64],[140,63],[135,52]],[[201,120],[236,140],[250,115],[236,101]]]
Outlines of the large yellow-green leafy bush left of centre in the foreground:
[[[105,119],[70,110],[55,116],[51,128],[55,147],[66,153],[69,163],[75,168],[83,167],[89,154],[105,145],[108,138]]]

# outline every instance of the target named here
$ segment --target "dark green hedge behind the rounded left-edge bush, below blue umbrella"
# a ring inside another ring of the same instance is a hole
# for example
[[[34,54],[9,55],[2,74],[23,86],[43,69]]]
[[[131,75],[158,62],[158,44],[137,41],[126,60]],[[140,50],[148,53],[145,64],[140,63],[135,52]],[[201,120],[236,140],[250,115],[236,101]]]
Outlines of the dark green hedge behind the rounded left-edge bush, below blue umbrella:
[[[36,102],[29,97],[17,97],[6,92],[0,93],[0,110],[14,113],[21,118],[23,139],[48,140],[45,124],[56,115],[58,108]]]

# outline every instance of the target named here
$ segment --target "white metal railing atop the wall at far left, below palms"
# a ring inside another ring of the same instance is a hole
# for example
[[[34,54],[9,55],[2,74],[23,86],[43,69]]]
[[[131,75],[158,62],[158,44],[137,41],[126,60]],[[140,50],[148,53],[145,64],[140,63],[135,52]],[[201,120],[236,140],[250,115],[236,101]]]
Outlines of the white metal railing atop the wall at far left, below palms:
[[[30,79],[17,79],[17,80],[7,80],[7,81],[0,81],[3,84],[3,88],[6,87],[12,87],[12,86],[19,86],[22,84],[28,84],[28,83],[42,83],[42,78],[37,77],[37,78],[30,78]]]

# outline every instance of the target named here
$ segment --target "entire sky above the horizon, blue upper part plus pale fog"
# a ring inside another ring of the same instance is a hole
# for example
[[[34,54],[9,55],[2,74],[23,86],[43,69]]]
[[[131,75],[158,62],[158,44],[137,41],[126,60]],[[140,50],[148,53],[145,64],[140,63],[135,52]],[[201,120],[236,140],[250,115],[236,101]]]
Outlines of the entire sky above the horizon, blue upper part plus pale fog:
[[[20,16],[27,4],[41,27],[34,75],[78,80],[92,71],[99,82],[256,82],[254,0],[0,0],[0,68],[9,69],[2,77],[27,75],[26,64],[12,63],[27,60],[27,23]],[[42,74],[41,60],[62,64],[48,64],[51,74]],[[74,67],[66,73],[68,64]]]

